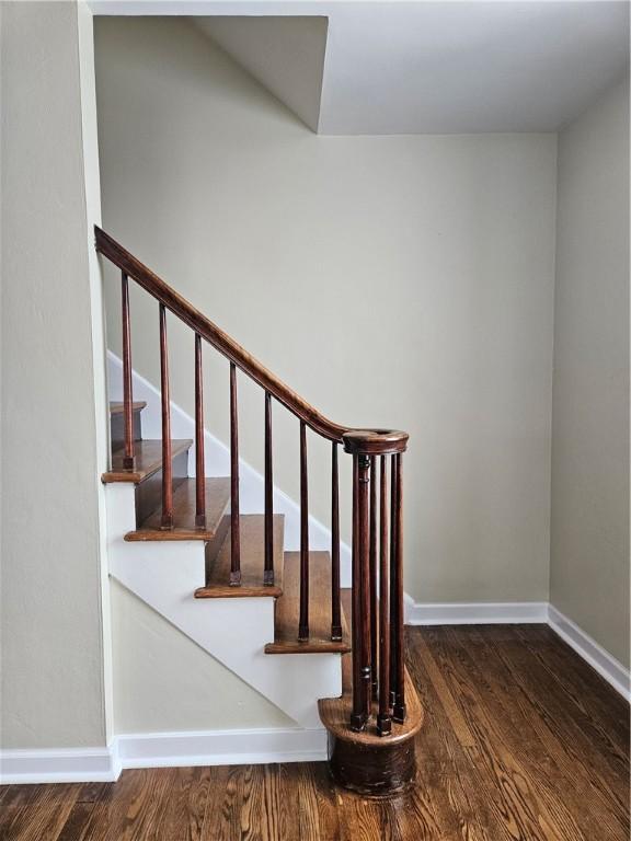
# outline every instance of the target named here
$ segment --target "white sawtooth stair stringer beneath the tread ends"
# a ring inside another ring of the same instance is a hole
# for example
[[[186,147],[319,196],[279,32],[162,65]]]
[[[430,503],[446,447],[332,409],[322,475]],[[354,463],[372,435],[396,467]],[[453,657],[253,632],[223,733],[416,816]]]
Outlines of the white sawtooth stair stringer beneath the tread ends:
[[[264,654],[274,640],[274,599],[195,599],[204,583],[203,541],[127,542],[135,529],[134,485],[110,484],[108,572],[300,727],[322,729],[318,699],[342,694],[339,654]]]

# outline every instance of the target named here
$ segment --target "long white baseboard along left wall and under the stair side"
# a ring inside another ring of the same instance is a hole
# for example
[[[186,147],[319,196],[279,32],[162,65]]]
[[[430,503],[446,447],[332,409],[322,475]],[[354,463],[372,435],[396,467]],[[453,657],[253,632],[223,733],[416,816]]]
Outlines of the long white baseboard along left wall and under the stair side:
[[[108,748],[0,751],[0,784],[115,782],[125,768],[326,759],[326,731],[301,728],[123,734]]]

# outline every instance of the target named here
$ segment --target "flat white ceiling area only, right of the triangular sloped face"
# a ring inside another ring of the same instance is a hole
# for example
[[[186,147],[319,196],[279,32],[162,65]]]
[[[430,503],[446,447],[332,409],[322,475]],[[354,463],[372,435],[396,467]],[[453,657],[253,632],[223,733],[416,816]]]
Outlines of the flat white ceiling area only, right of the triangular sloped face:
[[[324,134],[551,131],[621,76],[626,2],[363,4],[333,16]]]

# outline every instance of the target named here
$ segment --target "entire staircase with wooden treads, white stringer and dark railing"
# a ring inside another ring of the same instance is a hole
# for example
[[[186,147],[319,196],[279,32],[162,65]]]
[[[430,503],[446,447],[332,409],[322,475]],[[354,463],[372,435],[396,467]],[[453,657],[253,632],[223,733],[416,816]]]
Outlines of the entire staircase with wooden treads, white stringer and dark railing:
[[[111,466],[102,476],[111,575],[297,726],[323,725],[340,784],[369,794],[400,791],[414,775],[414,736],[423,719],[404,667],[408,435],[328,420],[108,234],[95,228],[95,235],[96,250],[122,273],[124,400],[110,404]],[[159,304],[159,440],[142,438],[146,404],[133,396],[129,278]],[[168,312],[194,333],[195,440],[171,437]],[[230,365],[230,475],[225,477],[204,474],[203,342]],[[241,515],[239,508],[238,371],[265,392],[261,514]],[[273,400],[299,420],[299,552],[284,551],[284,517],[273,510]],[[309,548],[308,428],[331,442],[330,552]],[[340,586],[340,446],[353,459],[349,598]]]

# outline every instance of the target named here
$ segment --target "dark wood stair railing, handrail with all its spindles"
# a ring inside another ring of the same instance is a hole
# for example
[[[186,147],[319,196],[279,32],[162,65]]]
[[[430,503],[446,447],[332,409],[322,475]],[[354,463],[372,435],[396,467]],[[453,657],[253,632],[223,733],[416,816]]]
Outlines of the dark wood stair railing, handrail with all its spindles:
[[[173,528],[173,476],[169,398],[167,311],[194,333],[195,499],[196,527],[205,527],[204,410],[202,339],[230,362],[230,585],[241,584],[239,542],[239,420],[237,370],[265,392],[264,585],[274,584],[272,399],[300,422],[300,610],[297,638],[309,641],[309,504],[307,427],[331,441],[331,640],[342,638],[340,592],[339,446],[353,459],[352,657],[354,730],[366,727],[377,704],[377,730],[387,736],[391,722],[405,718],[403,648],[403,482],[402,453],[408,434],[392,429],[358,429],[329,420],[275,377],[237,342],[140,263],[101,228],[94,228],[96,251],[121,269],[123,321],[124,464],[134,466],[131,321],[128,279],[158,301],[162,410],[163,529]],[[378,500],[378,502],[377,502]]]

